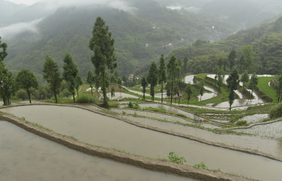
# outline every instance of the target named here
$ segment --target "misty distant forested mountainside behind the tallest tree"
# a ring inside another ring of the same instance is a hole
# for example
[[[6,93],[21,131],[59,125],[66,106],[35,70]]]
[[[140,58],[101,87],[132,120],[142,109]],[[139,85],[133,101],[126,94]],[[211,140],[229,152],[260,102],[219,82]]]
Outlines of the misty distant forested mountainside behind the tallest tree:
[[[108,6],[59,8],[38,25],[37,32],[25,32],[8,43],[6,64],[13,70],[22,67],[42,73],[44,57],[49,54],[62,65],[69,51],[86,77],[92,68],[88,43],[97,16],[102,16],[115,39],[118,73],[128,75],[135,68],[168,54],[173,48],[188,46],[197,39],[219,40],[233,32],[234,25],[205,15],[181,15],[154,1],[130,1],[131,13]],[[212,28],[217,23],[218,27]]]

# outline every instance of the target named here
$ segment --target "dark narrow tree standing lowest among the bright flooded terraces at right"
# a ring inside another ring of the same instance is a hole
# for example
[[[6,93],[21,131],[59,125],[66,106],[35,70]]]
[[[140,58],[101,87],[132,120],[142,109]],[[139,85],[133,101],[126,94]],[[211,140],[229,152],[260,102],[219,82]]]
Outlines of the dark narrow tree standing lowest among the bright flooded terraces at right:
[[[228,77],[226,82],[227,82],[227,87],[230,91],[228,98],[229,98],[229,110],[231,111],[231,106],[232,106],[233,101],[235,99],[234,90],[238,89],[238,85],[240,83],[239,74],[238,74],[238,71],[236,69],[232,70],[231,75]]]

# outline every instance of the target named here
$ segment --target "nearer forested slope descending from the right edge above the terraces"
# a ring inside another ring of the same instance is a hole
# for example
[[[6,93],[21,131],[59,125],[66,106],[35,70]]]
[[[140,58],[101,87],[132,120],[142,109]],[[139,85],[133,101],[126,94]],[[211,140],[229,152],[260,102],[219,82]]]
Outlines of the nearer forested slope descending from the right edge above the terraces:
[[[171,52],[178,58],[185,56],[190,58],[190,72],[194,72],[200,65],[202,72],[212,73],[219,60],[228,69],[228,54],[235,49],[237,51],[237,64],[243,47],[253,47],[254,60],[252,72],[264,74],[277,74],[282,68],[282,18],[272,23],[266,23],[250,30],[241,30],[220,42],[207,42],[197,40],[192,46],[174,49]]]

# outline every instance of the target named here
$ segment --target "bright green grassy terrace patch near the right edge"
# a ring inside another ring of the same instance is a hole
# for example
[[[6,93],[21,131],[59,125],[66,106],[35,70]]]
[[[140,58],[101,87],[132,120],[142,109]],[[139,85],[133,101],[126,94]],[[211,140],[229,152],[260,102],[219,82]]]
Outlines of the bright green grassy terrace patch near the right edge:
[[[276,100],[277,99],[277,94],[275,89],[272,87],[269,87],[269,82],[273,79],[274,77],[259,77],[259,82],[257,84],[257,87],[264,92],[267,96],[270,96],[271,99]]]

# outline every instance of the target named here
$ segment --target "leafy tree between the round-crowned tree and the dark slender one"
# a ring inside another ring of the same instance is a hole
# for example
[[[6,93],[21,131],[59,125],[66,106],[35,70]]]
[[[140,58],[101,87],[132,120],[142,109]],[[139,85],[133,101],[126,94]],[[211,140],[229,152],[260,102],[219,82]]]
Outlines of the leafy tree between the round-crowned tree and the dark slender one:
[[[45,57],[43,73],[43,78],[50,85],[51,90],[54,93],[55,101],[58,103],[57,92],[59,92],[59,89],[61,88],[62,79],[60,77],[58,65],[51,56],[47,55]]]

